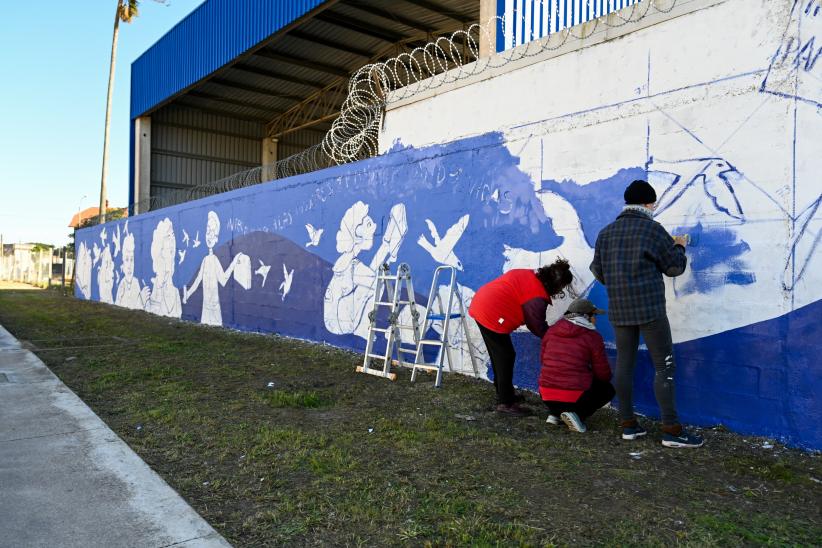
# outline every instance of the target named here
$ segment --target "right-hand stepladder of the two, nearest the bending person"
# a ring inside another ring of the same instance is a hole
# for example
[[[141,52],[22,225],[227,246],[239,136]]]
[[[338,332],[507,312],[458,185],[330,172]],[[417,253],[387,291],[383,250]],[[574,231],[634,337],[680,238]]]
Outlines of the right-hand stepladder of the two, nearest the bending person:
[[[440,294],[439,278],[440,275],[446,274],[448,279],[448,293],[443,303],[442,295]],[[445,306],[443,306],[445,304]],[[454,305],[456,304],[457,311],[454,312]],[[435,311],[434,306],[438,306],[438,311]],[[449,339],[449,326],[451,320],[459,320],[462,324],[463,337],[468,345],[468,354],[471,357],[471,366],[474,369],[474,376],[479,375],[477,367],[477,356],[474,354],[474,345],[471,342],[471,335],[468,331],[468,321],[465,313],[465,303],[462,300],[462,295],[457,291],[457,269],[453,266],[439,266],[434,271],[434,276],[431,279],[431,290],[428,293],[428,304],[425,307],[425,319],[422,322],[422,329],[419,331],[420,338],[417,342],[417,353],[414,356],[414,367],[411,371],[411,382],[414,382],[418,371],[436,371],[437,380],[434,386],[439,388],[442,386],[442,369],[444,360],[448,358],[448,370],[454,371],[454,357],[452,355],[451,341]],[[432,329],[434,322],[442,322],[442,333],[438,339],[426,339],[425,334]],[[437,358],[433,363],[425,362],[426,347],[438,348]]]

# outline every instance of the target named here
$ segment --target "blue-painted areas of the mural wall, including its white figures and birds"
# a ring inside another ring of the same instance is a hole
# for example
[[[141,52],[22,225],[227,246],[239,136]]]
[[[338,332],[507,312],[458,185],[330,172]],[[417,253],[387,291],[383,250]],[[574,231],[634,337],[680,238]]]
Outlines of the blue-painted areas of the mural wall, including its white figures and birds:
[[[586,185],[535,184],[497,133],[425,149],[397,145],[355,164],[83,229],[77,296],[361,351],[367,295],[383,261],[409,263],[418,292],[438,265],[453,264],[471,295],[503,271],[507,249],[567,244],[540,193],[576,212],[590,246],[619,212],[625,185],[645,169],[625,166]],[[747,244],[730,233],[701,238],[694,262],[705,272],[730,265],[723,283],[745,284]],[[697,275],[681,289],[700,291],[703,281]],[[590,295],[607,303],[598,284]],[[683,419],[822,448],[820,314],[822,301],[676,345]],[[607,321],[600,330],[613,341]],[[539,341],[529,333],[514,339],[515,382],[535,388]],[[656,408],[651,377],[643,355],[636,399],[648,413]]]

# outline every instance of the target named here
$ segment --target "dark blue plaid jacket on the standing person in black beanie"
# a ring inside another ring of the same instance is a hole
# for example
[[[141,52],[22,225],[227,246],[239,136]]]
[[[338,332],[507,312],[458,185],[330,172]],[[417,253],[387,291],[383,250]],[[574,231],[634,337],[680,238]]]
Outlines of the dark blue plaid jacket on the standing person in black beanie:
[[[640,325],[665,315],[663,274],[685,271],[685,249],[650,216],[623,211],[597,238],[591,271],[608,290],[614,325]]]

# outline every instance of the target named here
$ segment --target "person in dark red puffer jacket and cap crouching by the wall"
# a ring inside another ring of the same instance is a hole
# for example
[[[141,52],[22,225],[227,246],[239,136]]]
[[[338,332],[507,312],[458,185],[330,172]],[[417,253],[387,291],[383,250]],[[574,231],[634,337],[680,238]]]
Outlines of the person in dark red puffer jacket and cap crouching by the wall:
[[[588,299],[576,299],[542,338],[539,394],[550,424],[562,420],[585,432],[585,419],[614,397],[605,342],[596,330],[596,317],[604,313]]]

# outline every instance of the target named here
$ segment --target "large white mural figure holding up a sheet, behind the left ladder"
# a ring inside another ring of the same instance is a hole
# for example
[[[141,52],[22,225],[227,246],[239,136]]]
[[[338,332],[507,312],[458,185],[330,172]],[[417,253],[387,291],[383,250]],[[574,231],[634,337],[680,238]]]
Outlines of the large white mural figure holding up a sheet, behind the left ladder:
[[[391,208],[382,243],[368,264],[359,259],[362,251],[374,245],[377,225],[368,215],[368,205],[358,201],[343,215],[337,231],[337,252],[333,276],[325,292],[325,327],[331,333],[353,333],[365,338],[368,334],[366,311],[373,305],[377,270],[385,262],[397,260],[397,251],[408,232],[405,205]]]

